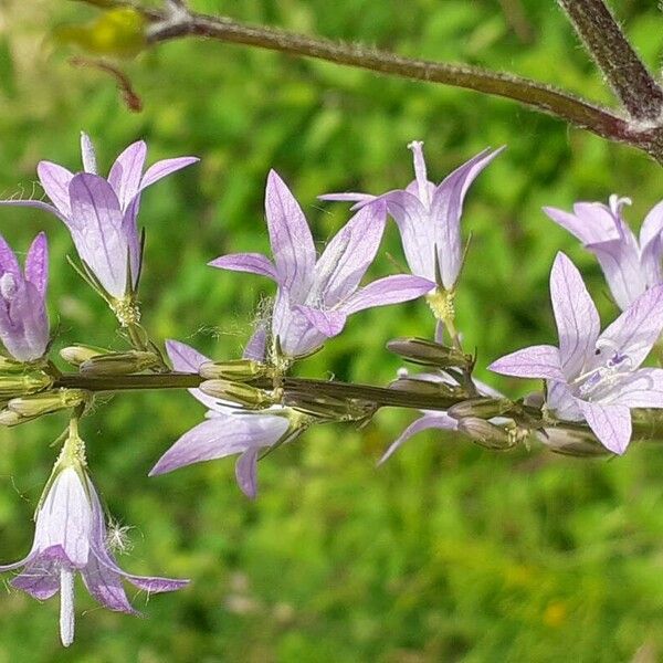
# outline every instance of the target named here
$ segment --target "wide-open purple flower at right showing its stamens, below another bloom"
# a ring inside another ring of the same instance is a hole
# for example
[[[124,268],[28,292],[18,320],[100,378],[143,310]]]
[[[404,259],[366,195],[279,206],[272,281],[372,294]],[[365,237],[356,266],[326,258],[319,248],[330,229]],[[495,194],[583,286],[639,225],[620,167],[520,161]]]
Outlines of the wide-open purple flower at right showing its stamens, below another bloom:
[[[602,334],[580,273],[558,253],[550,298],[559,348],[533,346],[488,368],[547,380],[546,407],[567,421],[587,421],[599,441],[623,453],[631,440],[631,408],[663,408],[663,369],[640,368],[663,329],[663,286],[638,297]]]

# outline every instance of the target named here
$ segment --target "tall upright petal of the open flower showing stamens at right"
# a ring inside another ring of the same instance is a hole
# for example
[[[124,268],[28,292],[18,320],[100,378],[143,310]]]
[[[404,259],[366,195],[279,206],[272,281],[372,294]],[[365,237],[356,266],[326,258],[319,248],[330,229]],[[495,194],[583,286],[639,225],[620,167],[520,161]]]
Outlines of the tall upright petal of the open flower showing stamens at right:
[[[576,265],[558,253],[550,272],[550,299],[559,336],[561,369],[577,376],[593,355],[601,322]]]

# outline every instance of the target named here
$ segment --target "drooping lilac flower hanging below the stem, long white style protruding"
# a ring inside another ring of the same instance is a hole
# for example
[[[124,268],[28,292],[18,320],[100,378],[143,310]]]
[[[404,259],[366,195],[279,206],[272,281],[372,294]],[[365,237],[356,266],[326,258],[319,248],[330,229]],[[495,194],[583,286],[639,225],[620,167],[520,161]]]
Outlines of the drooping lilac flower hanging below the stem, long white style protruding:
[[[32,549],[24,559],[0,567],[23,567],[12,586],[39,600],[60,591],[60,634],[69,646],[74,639],[74,576],[81,572],[90,593],[105,608],[137,614],[122,578],[150,593],[172,591],[188,580],[134,576],[123,571],[108,549],[104,511],[82,463],[65,464],[54,478],[36,512]]]

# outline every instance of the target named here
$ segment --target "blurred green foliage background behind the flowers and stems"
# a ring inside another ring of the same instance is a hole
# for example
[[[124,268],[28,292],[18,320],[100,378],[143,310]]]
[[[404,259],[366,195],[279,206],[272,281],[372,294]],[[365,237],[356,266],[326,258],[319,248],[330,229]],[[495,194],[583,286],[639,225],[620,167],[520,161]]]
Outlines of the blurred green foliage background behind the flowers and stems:
[[[657,67],[663,14],[651,0],[612,2]],[[609,101],[601,77],[552,0],[199,0],[198,9],[402,54],[482,64]],[[200,165],[144,197],[145,323],[218,357],[239,356],[259,277],[206,262],[265,250],[263,187],[273,167],[292,186],[320,248],[347,219],[316,196],[381,192],[412,178],[408,141],[425,141],[441,179],[486,146],[508,149],[481,176],[465,209],[472,251],[459,322],[480,366],[555,338],[547,277],[558,250],[579,264],[604,320],[617,313],[601,274],[540,212],[544,204],[630,196],[639,225],[661,198],[661,169],[633,150],[518,106],[441,86],[391,80],[242,46],[181,41],[123,63],[144,102],[130,113],[113,81],[73,67],[55,25],[94,18],[67,2],[0,3],[0,194],[30,194],[42,158],[78,167],[78,131],[104,167],[147,139],[149,159],[193,154]],[[38,194],[40,191],[38,190]],[[45,229],[50,311],[59,349],[123,347],[110,313],[65,263],[56,220],[0,210],[24,250]],[[392,256],[392,259],[389,257]],[[390,227],[372,275],[402,263]],[[423,303],[356,315],[341,337],[301,367],[339,379],[389,381],[383,344],[428,335]],[[522,394],[532,385],[481,378]],[[128,530],[124,568],[190,577],[176,594],[136,607],[148,619],[97,609],[77,591],[72,650],[57,639],[57,600],[40,606],[7,588],[0,663],[583,661],[663,656],[663,451],[641,444],[607,462],[540,450],[495,454],[453,435],[421,434],[376,469],[412,413],[381,412],[361,431],[320,427],[261,463],[250,503],[231,460],[147,478],[156,459],[203,413],[186,393],[122,394],[84,421],[92,472]],[[22,557],[63,415],[0,431],[0,558]],[[6,578],[7,580],[7,578]],[[130,590],[129,590],[130,592]],[[27,644],[29,643],[29,649]]]

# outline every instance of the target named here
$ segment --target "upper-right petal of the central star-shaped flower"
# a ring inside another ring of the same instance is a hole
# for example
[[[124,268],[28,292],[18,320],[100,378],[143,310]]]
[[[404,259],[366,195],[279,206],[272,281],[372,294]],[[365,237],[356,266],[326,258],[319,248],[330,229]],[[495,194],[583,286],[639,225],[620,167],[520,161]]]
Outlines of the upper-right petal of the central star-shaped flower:
[[[329,242],[315,265],[315,280],[307,301],[335,306],[357,290],[372,263],[387,222],[382,201],[366,206]]]

